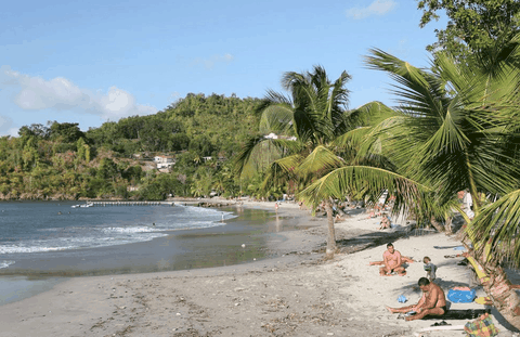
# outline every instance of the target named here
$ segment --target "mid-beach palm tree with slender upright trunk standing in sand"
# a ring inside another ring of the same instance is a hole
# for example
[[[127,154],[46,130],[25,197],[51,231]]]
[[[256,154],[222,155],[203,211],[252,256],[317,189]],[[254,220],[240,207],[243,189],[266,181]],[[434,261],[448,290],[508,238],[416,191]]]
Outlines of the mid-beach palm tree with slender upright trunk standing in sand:
[[[380,104],[349,113],[349,91],[344,88],[349,79],[343,72],[332,82],[321,66],[304,74],[286,73],[282,86],[290,98],[268,91],[260,107],[261,135],[252,138],[235,158],[237,171],[264,171],[263,187],[268,190],[289,180],[306,186],[342,166],[343,157],[352,157],[352,144],[341,141],[342,135],[374,119],[365,117],[366,113],[388,113]],[[332,257],[336,250],[332,200],[327,197],[321,202],[328,219],[326,255]]]

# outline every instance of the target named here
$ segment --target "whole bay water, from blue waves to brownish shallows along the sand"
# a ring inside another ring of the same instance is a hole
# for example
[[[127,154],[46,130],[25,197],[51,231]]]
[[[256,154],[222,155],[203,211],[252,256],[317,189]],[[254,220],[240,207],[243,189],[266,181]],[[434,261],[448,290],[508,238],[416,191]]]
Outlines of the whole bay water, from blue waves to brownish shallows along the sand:
[[[296,230],[263,209],[0,203],[0,304],[70,276],[231,265],[271,257]],[[84,203],[83,203],[84,204]]]

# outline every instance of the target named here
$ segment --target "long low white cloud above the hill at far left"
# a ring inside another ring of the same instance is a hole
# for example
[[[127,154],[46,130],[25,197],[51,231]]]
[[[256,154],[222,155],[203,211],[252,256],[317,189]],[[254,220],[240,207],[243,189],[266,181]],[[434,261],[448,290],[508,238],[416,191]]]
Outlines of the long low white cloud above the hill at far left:
[[[135,103],[132,94],[117,87],[110,87],[106,93],[92,92],[63,77],[46,80],[13,72],[9,66],[0,67],[0,88],[15,89],[14,103],[27,111],[74,111],[105,120],[157,112],[153,106]]]

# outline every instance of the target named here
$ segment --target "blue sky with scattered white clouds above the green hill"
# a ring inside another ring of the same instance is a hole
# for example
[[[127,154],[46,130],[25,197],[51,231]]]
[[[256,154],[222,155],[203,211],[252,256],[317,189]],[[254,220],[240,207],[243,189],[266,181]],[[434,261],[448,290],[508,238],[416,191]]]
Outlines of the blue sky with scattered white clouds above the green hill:
[[[48,121],[81,130],[164,111],[187,93],[263,98],[285,72],[347,70],[349,108],[395,106],[370,48],[417,67],[438,23],[416,0],[9,1],[0,11],[0,135]]]

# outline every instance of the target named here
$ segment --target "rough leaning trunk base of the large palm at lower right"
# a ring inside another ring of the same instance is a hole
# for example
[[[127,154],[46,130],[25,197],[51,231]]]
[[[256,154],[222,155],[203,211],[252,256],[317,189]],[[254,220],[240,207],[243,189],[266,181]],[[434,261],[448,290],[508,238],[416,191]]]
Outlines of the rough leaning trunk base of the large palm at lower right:
[[[476,259],[481,265],[482,258]],[[490,277],[489,282],[483,282],[484,291],[493,301],[496,310],[512,326],[520,329],[520,298],[507,278],[507,274],[495,261],[485,264],[484,271]]]

